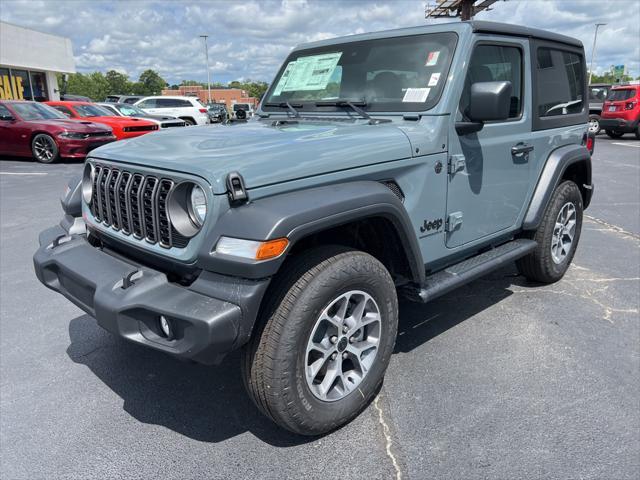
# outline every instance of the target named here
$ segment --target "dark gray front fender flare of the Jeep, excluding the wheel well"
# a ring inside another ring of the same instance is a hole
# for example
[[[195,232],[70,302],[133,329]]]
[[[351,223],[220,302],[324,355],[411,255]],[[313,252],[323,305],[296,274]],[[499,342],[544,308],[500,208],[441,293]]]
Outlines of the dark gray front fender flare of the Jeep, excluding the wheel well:
[[[356,181],[298,190],[258,199],[223,213],[206,234],[209,241],[198,255],[198,266],[244,278],[277,273],[286,255],[256,262],[215,252],[221,236],[249,240],[287,237],[289,251],[308,235],[365,218],[383,217],[394,226],[411,269],[412,280],[424,281],[424,262],[409,215],[385,185]]]

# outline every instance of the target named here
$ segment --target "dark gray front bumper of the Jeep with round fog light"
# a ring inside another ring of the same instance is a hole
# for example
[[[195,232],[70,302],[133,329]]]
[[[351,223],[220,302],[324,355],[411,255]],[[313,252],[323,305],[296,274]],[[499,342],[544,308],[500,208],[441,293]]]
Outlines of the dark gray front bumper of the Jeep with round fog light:
[[[53,246],[64,235],[60,227],[42,232],[33,258],[36,276],[109,332],[205,364],[218,363],[248,339],[268,280],[208,274],[184,287],[91,246],[85,235],[66,236]],[[135,271],[128,286],[124,278]],[[171,322],[172,338],[162,334],[160,315]]]

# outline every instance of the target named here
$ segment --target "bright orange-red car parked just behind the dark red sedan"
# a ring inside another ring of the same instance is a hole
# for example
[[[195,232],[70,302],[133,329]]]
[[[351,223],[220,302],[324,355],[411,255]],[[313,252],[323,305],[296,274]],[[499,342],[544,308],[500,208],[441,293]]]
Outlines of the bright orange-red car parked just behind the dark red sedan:
[[[103,123],[113,130],[118,140],[139,137],[158,130],[156,122],[141,118],[114,117],[109,110],[89,102],[45,102],[72,120]]]

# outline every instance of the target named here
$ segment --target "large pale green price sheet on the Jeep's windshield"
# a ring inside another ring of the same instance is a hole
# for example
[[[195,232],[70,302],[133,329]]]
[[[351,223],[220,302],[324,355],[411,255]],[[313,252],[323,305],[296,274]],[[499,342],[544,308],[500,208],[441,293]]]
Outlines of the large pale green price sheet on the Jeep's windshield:
[[[295,62],[287,65],[287,70],[289,67],[291,70],[289,72],[285,70],[274,94],[278,95],[280,91],[292,92],[327,88],[341,56],[342,52],[337,52],[298,58]],[[285,74],[287,74],[287,79],[282,89],[279,90]]]

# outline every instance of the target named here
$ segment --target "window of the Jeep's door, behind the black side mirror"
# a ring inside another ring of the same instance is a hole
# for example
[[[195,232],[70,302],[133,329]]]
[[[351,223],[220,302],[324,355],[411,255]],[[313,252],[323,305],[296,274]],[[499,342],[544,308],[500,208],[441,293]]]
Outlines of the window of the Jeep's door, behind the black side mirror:
[[[509,118],[518,118],[522,112],[522,51],[505,45],[478,45],[473,51],[460,111],[466,116],[471,96],[471,85],[477,82],[511,82],[512,93]]]

